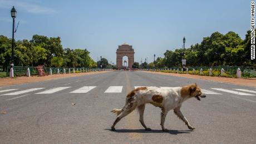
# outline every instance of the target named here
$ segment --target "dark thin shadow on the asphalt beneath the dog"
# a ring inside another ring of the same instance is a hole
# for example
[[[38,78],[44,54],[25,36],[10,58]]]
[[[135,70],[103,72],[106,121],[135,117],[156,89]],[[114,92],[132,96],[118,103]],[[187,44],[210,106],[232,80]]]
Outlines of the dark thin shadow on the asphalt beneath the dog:
[[[105,129],[111,131],[111,129]],[[136,130],[131,130],[131,129],[121,129],[121,130],[116,130],[112,132],[117,132],[117,133],[170,133],[171,135],[178,135],[180,133],[190,133],[191,130],[183,131],[183,130],[169,130],[169,131],[162,131],[162,130],[151,130],[151,131],[146,131],[144,129],[136,129]]]

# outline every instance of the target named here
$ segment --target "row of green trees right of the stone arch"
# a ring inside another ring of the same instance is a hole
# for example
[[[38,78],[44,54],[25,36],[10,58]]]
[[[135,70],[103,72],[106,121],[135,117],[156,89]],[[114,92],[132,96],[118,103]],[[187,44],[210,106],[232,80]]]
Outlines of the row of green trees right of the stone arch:
[[[210,37],[204,37],[201,43],[185,48],[186,66],[249,66],[256,67],[256,61],[250,59],[250,33],[245,39],[235,32],[221,34],[214,32]],[[157,57],[156,68],[181,67],[183,48],[174,51],[166,50],[164,57]],[[146,62],[134,67],[153,68],[154,63]]]

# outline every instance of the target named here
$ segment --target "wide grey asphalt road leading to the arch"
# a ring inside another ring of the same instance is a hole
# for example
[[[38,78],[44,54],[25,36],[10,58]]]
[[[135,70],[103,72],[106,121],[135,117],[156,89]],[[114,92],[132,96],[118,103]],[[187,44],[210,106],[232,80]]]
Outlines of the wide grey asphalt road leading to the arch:
[[[207,90],[207,97],[191,98],[181,108],[194,131],[173,111],[165,121],[170,131],[161,131],[160,108],[150,104],[144,121],[152,131],[144,130],[136,111],[110,131],[116,118],[110,111],[124,106],[135,86],[195,82]],[[107,72],[0,88],[0,143],[256,143],[255,111],[253,87],[139,71]]]

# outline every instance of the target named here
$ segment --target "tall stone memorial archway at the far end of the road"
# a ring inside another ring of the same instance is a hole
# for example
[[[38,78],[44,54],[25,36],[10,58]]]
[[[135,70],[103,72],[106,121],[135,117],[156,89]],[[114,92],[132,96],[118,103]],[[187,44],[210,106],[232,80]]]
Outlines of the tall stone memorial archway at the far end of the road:
[[[122,57],[128,57],[128,67],[131,69],[134,64],[134,49],[132,46],[124,43],[121,46],[118,46],[116,49],[116,66],[117,69],[122,69]]]

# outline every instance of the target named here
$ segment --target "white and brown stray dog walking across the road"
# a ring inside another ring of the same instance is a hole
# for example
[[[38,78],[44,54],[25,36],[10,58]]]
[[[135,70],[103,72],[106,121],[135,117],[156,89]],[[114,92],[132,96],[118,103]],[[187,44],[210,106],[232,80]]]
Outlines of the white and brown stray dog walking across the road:
[[[135,110],[139,111],[140,123],[145,130],[150,131],[151,128],[147,127],[143,120],[145,104],[151,103],[156,107],[160,107],[161,112],[161,127],[163,131],[168,131],[164,127],[165,117],[170,110],[174,110],[177,115],[190,130],[194,130],[195,127],[191,126],[186,120],[186,117],[180,111],[182,103],[191,97],[195,97],[200,101],[200,97],[206,97],[200,88],[195,84],[191,84],[184,87],[138,87],[132,90],[126,96],[125,106],[121,109],[112,110],[111,112],[116,113],[117,116],[115,122],[111,126],[111,130],[115,131],[115,125],[121,120],[121,118],[127,116],[129,113]]]

